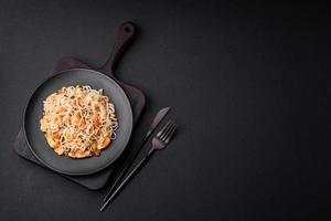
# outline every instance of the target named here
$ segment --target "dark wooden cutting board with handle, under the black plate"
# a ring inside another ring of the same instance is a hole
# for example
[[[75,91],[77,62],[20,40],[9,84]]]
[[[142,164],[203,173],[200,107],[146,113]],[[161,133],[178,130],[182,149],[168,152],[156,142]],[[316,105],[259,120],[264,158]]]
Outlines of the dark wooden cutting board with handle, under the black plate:
[[[120,59],[125,49],[134,40],[135,34],[136,34],[136,27],[132,22],[122,23],[118,29],[118,33],[117,33],[117,38],[115,41],[113,52],[111,52],[109,59],[107,60],[106,64],[102,67],[94,69],[83,62],[75,60],[75,59],[63,57],[56,63],[55,67],[51,72],[51,75],[54,75],[61,71],[68,70],[68,69],[89,69],[89,70],[96,70],[98,72],[102,72],[102,73],[115,78],[122,86],[124,91],[126,92],[126,94],[129,97],[132,113],[134,113],[134,123],[136,125],[137,120],[139,119],[141,113],[145,108],[145,104],[146,104],[145,95],[141,91],[137,90],[136,87],[134,87],[129,84],[126,84],[126,83],[121,82],[120,80],[116,78],[115,74],[114,74],[115,65],[117,64],[117,62]],[[76,183],[79,183],[83,187],[86,187],[88,189],[93,189],[93,190],[100,189],[105,186],[105,183],[107,182],[109,177],[111,177],[111,175],[114,175],[116,166],[119,164],[122,164],[130,156],[130,152],[134,150],[134,146],[130,144],[128,146],[130,148],[127,148],[125,150],[125,152],[124,152],[125,155],[122,155],[118,160],[116,160],[115,164],[111,164],[109,167],[107,167],[106,169],[104,169],[99,172],[88,175],[88,176],[65,176],[65,175],[61,175],[61,173],[58,173],[58,175],[72,180]],[[30,151],[30,148],[26,144],[26,139],[23,135],[22,128],[20,129],[20,131],[15,138],[14,150],[19,156],[23,157],[24,159],[28,159],[41,167],[46,168]],[[46,169],[49,169],[49,168],[46,168]],[[50,170],[50,171],[53,171],[53,170]],[[55,172],[55,171],[53,171],[53,172]]]

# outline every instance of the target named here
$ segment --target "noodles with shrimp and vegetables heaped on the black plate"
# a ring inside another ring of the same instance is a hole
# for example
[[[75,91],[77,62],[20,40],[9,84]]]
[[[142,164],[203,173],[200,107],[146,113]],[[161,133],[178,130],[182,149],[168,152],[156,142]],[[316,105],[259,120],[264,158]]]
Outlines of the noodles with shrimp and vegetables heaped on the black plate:
[[[117,128],[115,106],[103,90],[62,87],[43,102],[40,129],[57,155],[99,156],[116,138]]]

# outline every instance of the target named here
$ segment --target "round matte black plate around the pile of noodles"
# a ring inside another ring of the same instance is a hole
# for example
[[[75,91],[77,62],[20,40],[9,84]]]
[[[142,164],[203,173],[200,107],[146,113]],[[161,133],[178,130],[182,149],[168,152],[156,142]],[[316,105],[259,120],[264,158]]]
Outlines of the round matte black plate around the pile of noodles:
[[[117,138],[110,146],[102,150],[99,157],[72,159],[58,156],[46,143],[40,130],[43,101],[63,86],[89,85],[95,90],[103,88],[115,105],[119,127]],[[72,69],[63,71],[43,82],[32,94],[24,112],[23,129],[26,141],[33,155],[49,168],[71,176],[90,175],[114,162],[127,146],[132,130],[132,110],[129,99],[122,88],[113,78],[96,71]]]

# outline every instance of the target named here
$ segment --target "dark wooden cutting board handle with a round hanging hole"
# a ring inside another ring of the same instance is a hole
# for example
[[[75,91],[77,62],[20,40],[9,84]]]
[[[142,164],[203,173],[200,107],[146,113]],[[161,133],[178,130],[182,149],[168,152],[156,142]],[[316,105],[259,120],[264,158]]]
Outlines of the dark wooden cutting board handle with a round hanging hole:
[[[107,60],[107,62],[100,67],[107,74],[114,75],[114,69],[122,55],[125,49],[131,43],[135,38],[136,28],[132,22],[122,23],[118,31],[117,36],[115,39],[115,44],[113,51]]]

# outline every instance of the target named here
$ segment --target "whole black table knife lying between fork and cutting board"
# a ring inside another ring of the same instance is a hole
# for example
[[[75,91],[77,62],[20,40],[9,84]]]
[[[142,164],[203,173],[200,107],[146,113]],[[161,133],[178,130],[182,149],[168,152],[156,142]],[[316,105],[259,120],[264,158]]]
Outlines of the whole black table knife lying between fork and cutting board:
[[[148,138],[154,131],[154,129],[158,127],[158,125],[162,122],[162,119],[166,117],[166,115],[170,112],[170,109],[171,109],[170,107],[164,107],[164,108],[160,109],[158,112],[158,114],[154,116],[153,122],[150,125],[150,127],[148,128],[148,131],[146,133],[146,135],[145,135],[141,144],[140,144],[140,146],[132,154],[132,157],[127,162],[125,162],[124,167],[121,169],[119,169],[120,171],[118,172],[118,176],[117,176],[116,180],[114,181],[114,183],[113,183],[109,192],[104,198],[104,201],[106,201],[109,198],[109,196],[111,194],[113,190],[115,190],[115,188],[117,187],[117,185],[119,183],[119,181],[121,180],[121,178],[125,176],[126,171],[129,169],[129,167],[131,166],[131,164],[137,158],[138,154],[140,152],[141,148],[143,147],[145,143],[148,140]]]

